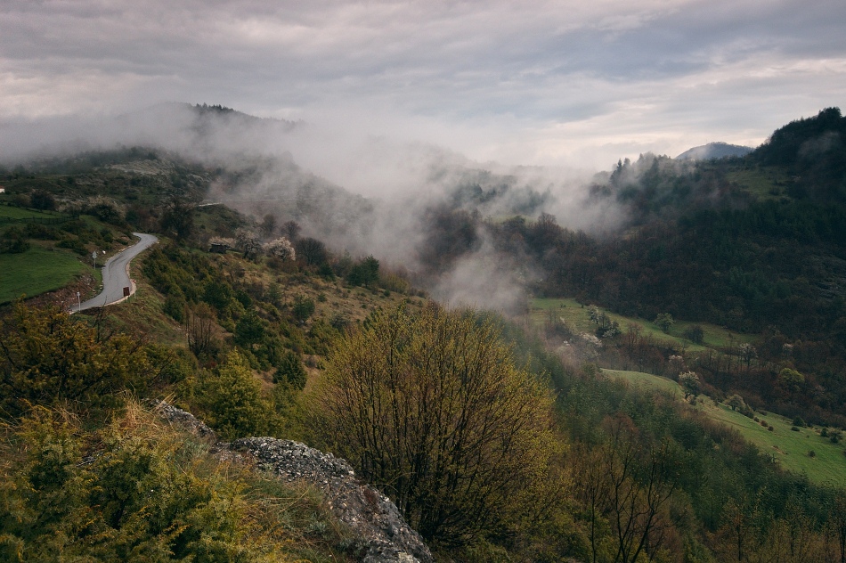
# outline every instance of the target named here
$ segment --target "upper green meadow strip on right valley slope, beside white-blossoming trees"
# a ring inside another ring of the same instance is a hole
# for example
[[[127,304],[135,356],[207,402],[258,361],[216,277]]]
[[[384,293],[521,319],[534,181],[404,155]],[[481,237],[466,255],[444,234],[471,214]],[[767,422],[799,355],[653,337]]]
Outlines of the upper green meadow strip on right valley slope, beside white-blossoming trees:
[[[672,326],[670,333],[665,334],[661,329],[658,328],[657,325],[655,325],[654,322],[650,322],[645,319],[624,317],[620,314],[611,313],[610,311],[607,311],[606,309],[603,309],[601,307],[599,307],[599,310],[607,314],[608,317],[611,318],[613,321],[619,322],[621,330],[626,330],[626,327],[629,324],[635,324],[640,327],[644,336],[651,336],[658,340],[669,340],[679,348],[686,347],[687,350],[692,352],[702,351],[710,347],[724,347],[728,345],[729,341],[734,342],[735,345],[738,345],[742,342],[753,343],[756,338],[752,335],[737,334],[736,332],[726,330],[722,327],[719,327],[714,324],[709,324],[707,322],[677,321]],[[573,327],[579,332],[590,332],[591,334],[593,334],[593,331],[597,328],[596,325],[590,321],[588,306],[582,306],[581,303],[571,298],[533,299],[531,303],[531,315],[532,321],[535,326],[541,326],[542,324],[549,322],[550,311],[557,317],[560,317],[566,322],[571,323]],[[693,324],[698,324],[703,328],[704,339],[702,345],[694,344],[689,340],[685,339],[684,336],[682,336],[687,327]]]

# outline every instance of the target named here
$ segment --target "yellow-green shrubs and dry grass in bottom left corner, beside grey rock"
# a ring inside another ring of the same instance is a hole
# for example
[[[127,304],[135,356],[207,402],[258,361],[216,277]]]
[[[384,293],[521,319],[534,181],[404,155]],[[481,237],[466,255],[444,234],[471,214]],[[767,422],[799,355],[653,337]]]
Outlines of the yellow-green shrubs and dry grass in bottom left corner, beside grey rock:
[[[3,561],[297,559],[286,545],[296,509],[286,515],[249,498],[261,478],[244,482],[204,461],[202,445],[137,404],[96,433],[66,412],[37,409],[0,452]]]

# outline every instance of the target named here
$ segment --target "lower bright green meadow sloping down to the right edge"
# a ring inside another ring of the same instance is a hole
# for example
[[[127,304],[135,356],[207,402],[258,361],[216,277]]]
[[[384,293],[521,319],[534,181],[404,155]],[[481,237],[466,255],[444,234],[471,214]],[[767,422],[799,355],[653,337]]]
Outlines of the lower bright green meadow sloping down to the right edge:
[[[633,388],[662,391],[676,395],[679,399],[684,396],[679,384],[670,379],[639,371],[602,372],[609,377],[625,379]],[[820,436],[820,428],[799,428],[797,432],[791,429],[793,420],[773,413],[756,413],[759,420],[767,422],[767,427],[773,427],[770,432],[760,422],[732,411],[725,404],[714,404],[708,398],[699,401],[696,408],[708,418],[736,429],[762,453],[769,454],[783,469],[804,473],[811,482],[818,485],[846,485],[846,444],[833,444],[828,438]],[[811,451],[815,454],[813,457],[809,455]]]

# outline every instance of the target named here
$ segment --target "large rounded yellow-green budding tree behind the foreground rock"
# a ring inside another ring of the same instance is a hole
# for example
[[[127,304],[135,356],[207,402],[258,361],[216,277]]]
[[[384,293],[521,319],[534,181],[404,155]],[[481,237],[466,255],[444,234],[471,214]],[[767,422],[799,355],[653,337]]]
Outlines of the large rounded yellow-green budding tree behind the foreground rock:
[[[466,543],[537,507],[552,398],[492,320],[435,305],[375,313],[338,343],[313,403],[329,447],[427,539]]]

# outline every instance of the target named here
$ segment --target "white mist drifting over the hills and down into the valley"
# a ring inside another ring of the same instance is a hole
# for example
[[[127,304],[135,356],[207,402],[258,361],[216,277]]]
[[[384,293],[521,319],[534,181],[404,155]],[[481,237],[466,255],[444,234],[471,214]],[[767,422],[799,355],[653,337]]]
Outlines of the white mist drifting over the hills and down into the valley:
[[[614,230],[624,221],[613,198],[589,197],[592,173],[476,162],[435,143],[409,140],[408,131],[399,139],[343,125],[167,103],[117,117],[0,124],[0,164],[155,148],[224,170],[207,202],[223,202],[257,220],[268,214],[277,224],[295,220],[304,236],[338,253],[402,266],[443,303],[505,312],[525,308],[525,286],[535,274],[529,261],[494,249],[480,220],[547,213],[564,227],[589,233]],[[467,241],[451,250],[450,261],[435,266],[434,240],[451,233],[435,233],[433,221],[456,213],[474,218],[474,232],[464,233]]]

